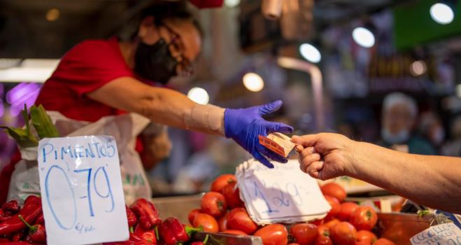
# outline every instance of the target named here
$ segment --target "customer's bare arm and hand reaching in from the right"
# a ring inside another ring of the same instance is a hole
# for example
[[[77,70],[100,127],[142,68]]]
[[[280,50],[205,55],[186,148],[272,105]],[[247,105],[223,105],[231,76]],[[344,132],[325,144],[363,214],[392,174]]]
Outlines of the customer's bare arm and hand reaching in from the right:
[[[427,207],[461,213],[461,158],[400,153],[340,134],[293,141],[302,145],[300,167],[315,178],[352,176]]]

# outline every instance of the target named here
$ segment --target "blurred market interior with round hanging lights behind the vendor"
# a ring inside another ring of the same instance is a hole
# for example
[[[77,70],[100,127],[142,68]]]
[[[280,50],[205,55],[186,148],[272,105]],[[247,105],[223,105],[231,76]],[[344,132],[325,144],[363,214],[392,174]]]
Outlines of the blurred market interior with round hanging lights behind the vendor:
[[[148,2],[1,0],[0,125],[24,125],[20,110],[34,104],[66,50],[119,34]],[[225,0],[197,9],[205,34],[196,72],[168,87],[226,108],[281,99],[268,119],[294,134],[339,132],[377,144],[383,99],[402,92],[418,106],[410,134],[423,153],[461,156],[460,1],[285,0],[274,19],[261,6]],[[169,157],[148,171],[155,196],[208,190],[250,158],[229,139],[168,130]],[[1,133],[0,169],[15,148]]]

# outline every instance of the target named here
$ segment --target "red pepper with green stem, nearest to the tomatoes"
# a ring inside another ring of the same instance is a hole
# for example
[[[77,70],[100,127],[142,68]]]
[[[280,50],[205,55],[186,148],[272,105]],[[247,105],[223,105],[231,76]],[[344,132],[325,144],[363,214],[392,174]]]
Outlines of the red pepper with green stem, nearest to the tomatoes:
[[[202,230],[183,225],[177,218],[166,218],[159,226],[159,235],[166,245],[175,245],[190,239],[193,232]]]

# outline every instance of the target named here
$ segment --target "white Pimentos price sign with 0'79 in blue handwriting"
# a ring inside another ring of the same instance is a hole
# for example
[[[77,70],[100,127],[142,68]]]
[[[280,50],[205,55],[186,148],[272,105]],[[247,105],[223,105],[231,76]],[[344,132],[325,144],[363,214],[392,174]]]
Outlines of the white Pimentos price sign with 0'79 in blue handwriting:
[[[48,244],[129,238],[120,162],[110,136],[42,139],[38,173]]]

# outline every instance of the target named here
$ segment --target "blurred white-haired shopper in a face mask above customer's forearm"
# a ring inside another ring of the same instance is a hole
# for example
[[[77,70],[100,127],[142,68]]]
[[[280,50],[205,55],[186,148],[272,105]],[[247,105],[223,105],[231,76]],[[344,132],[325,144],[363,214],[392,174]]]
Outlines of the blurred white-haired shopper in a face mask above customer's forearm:
[[[418,116],[418,106],[413,98],[401,92],[388,94],[383,100],[382,115],[378,145],[406,153],[436,154],[427,140],[413,132]]]

